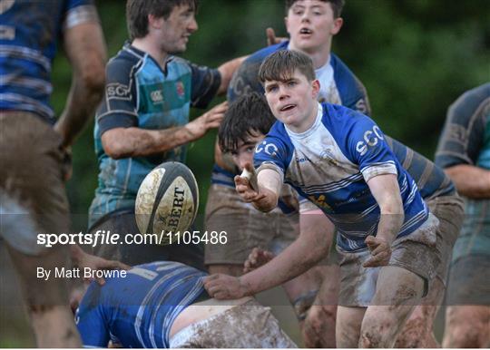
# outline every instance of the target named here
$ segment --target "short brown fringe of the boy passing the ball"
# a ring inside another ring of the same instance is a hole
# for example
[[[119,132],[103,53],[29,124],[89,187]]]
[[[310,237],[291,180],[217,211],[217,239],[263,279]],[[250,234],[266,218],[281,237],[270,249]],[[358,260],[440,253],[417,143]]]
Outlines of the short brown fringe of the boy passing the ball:
[[[285,82],[294,74],[296,70],[305,75],[312,82],[316,79],[313,61],[306,53],[294,50],[279,50],[271,53],[260,64],[259,81]]]

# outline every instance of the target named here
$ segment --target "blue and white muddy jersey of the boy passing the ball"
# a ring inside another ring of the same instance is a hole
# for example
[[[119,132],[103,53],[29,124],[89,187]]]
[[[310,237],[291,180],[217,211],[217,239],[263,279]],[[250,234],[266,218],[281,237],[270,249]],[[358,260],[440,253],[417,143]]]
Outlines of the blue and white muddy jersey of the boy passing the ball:
[[[379,207],[368,180],[395,174],[405,211],[397,237],[422,225],[428,209],[416,182],[388,147],[383,132],[366,115],[334,104],[319,104],[313,126],[289,131],[276,122],[255,150],[258,170],[272,169],[299,194],[315,203],[338,228],[338,248],[367,248],[364,240],[376,235]]]

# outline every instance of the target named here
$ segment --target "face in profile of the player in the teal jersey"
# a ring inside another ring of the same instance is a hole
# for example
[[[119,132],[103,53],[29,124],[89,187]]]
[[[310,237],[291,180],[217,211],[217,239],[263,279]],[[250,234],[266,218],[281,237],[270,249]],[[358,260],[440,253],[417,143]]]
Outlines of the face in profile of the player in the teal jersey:
[[[162,51],[183,53],[187,48],[189,36],[198,29],[194,10],[189,5],[173,7],[166,20],[162,18]]]

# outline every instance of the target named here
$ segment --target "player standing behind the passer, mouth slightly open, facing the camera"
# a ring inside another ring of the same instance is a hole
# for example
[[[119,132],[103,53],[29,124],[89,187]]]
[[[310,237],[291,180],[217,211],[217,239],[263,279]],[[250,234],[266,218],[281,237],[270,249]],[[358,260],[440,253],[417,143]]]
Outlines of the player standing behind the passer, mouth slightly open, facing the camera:
[[[309,54],[314,62],[316,76],[321,82],[320,102],[338,103],[369,114],[366,89],[348,66],[331,52],[333,36],[338,34],[343,24],[340,16],[343,5],[343,0],[286,0],[285,24],[290,40],[252,53],[233,75],[228,101],[233,102],[248,92],[263,92],[257,79],[260,63],[270,53],[296,50]],[[205,227],[208,230],[224,230],[232,235],[226,245],[205,247],[205,263],[211,273],[239,276],[243,262],[253,247],[272,248],[279,252],[298,236],[298,216],[292,215],[290,208],[280,206],[280,209],[270,213],[260,213],[240,199],[233,182],[237,173],[236,165],[229,155],[221,154],[217,142]],[[338,276],[338,267],[332,261],[334,258],[331,256],[330,261],[284,286],[298,316],[307,346],[335,347],[333,329],[336,303],[326,304],[317,300],[315,304],[324,307],[308,311],[317,296],[322,276]],[[337,297],[336,285],[334,283],[328,299]],[[323,320],[314,314],[321,315]],[[316,331],[315,328],[319,326],[324,331]]]

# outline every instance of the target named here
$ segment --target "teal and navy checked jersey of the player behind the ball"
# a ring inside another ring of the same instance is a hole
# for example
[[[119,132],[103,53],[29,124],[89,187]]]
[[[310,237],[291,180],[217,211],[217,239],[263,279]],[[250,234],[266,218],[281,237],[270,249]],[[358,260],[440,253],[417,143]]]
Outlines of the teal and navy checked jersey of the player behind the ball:
[[[118,209],[134,208],[144,177],[163,161],[185,162],[186,146],[146,157],[114,160],[103,150],[102,135],[115,128],[164,130],[189,122],[191,107],[203,108],[220,87],[216,69],[170,56],[162,69],[151,55],[125,44],[107,63],[105,94],[93,138],[99,185],[89,210],[89,226]]]

